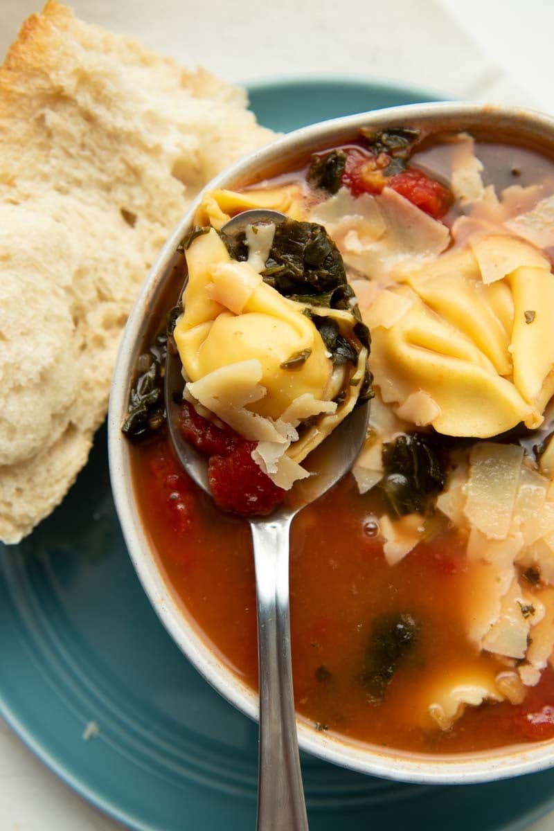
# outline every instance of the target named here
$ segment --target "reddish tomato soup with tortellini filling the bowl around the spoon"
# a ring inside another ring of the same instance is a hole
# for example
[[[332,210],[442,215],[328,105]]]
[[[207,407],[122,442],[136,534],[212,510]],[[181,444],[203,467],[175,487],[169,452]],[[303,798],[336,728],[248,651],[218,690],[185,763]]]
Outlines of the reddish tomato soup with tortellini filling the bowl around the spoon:
[[[419,752],[554,735],[553,173],[532,150],[393,130],[199,208],[215,229],[261,200],[325,227],[372,335],[365,449],[292,529],[295,698],[316,730]],[[160,568],[255,687],[248,527],[163,426],[134,466]]]

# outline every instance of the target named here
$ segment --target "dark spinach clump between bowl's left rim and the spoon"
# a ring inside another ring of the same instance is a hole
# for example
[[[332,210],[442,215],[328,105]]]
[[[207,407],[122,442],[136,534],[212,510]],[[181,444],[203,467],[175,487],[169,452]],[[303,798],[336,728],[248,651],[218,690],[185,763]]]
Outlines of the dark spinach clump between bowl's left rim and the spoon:
[[[170,348],[173,342],[175,323],[182,311],[179,306],[169,310],[165,330],[158,332],[148,352],[143,352],[136,361],[127,417],[121,428],[129,439],[148,438],[165,424],[165,358],[168,346]]]

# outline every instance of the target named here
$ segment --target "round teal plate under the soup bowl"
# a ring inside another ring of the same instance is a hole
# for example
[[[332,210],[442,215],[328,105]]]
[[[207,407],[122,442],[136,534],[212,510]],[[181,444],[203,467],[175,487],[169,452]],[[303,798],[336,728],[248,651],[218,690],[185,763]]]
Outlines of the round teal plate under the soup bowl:
[[[438,97],[356,78],[250,90],[277,130]],[[203,681],[150,607],[115,515],[104,428],[63,504],[0,550],[0,655],[0,712],[86,799],[133,829],[255,827],[257,727]],[[91,720],[101,732],[84,741]],[[554,771],[427,787],[310,756],[302,768],[311,831],[515,831],[554,807]]]

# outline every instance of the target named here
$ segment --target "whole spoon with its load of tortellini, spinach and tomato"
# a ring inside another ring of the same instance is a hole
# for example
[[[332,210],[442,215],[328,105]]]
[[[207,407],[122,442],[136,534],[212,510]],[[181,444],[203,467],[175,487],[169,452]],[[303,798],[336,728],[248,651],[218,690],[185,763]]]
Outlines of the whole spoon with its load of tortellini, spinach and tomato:
[[[321,225],[248,210],[183,243],[165,369],[185,470],[252,530],[260,750],[257,828],[307,829],[292,691],[289,529],[348,470],[369,416],[369,337]],[[179,317],[177,317],[179,314]]]

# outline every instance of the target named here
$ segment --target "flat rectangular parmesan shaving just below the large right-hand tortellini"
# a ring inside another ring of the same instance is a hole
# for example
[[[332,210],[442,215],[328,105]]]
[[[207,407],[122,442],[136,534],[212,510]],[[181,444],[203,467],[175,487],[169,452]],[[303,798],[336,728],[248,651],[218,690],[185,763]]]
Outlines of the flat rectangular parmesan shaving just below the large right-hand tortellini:
[[[491,539],[507,537],[516,501],[523,449],[483,442],[469,454],[468,499],[463,513]]]

